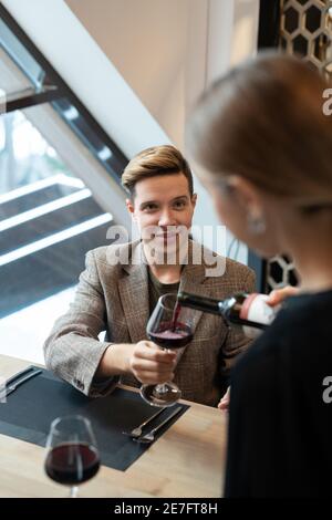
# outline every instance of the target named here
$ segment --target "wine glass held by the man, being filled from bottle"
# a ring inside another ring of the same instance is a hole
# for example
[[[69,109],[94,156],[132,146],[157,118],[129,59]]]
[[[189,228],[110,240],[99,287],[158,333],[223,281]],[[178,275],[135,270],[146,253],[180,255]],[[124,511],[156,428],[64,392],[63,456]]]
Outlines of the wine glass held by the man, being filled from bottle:
[[[193,325],[196,311],[183,308],[177,294],[164,294],[147,322],[147,337],[164,350],[181,349],[193,340]],[[143,385],[141,396],[153,406],[173,406],[181,396],[175,383]]]

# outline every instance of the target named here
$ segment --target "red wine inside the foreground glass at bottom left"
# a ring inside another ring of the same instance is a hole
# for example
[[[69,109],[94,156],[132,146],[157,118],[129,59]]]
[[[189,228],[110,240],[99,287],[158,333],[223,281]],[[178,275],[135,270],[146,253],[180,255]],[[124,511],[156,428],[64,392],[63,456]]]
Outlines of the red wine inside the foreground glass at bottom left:
[[[100,457],[93,446],[68,443],[51,449],[45,471],[55,482],[79,486],[94,477],[100,469]]]

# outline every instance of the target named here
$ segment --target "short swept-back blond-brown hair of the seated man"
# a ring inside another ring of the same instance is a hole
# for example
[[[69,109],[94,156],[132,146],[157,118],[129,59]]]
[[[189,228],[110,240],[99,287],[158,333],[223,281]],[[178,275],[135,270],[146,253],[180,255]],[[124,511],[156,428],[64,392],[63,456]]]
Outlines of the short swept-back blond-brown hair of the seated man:
[[[184,174],[188,180],[190,196],[193,196],[193,174],[181,153],[172,145],[152,146],[135,155],[127,164],[122,175],[122,185],[133,197],[138,180],[173,174]]]

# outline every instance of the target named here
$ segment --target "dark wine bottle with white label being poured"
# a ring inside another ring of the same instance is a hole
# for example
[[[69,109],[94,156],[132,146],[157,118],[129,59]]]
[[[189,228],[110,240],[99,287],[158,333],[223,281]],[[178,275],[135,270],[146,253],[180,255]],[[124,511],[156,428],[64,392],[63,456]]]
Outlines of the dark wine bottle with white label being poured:
[[[270,306],[268,295],[239,292],[226,300],[200,297],[188,292],[177,295],[180,306],[189,306],[203,312],[219,314],[230,325],[241,326],[248,337],[257,337],[274,320],[280,305]]]

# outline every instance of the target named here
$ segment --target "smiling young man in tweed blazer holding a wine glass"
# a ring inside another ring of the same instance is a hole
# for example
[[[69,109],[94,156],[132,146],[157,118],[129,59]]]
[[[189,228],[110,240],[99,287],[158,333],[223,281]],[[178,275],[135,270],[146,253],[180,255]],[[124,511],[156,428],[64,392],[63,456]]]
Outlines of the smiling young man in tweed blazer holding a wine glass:
[[[194,259],[197,248],[207,252],[188,235],[197,196],[190,168],[173,146],[134,157],[123,186],[141,239],[87,253],[75,300],[45,342],[46,366],[91,396],[104,395],[118,381],[139,386],[174,378],[184,398],[215,406],[248,340],[219,316],[200,313],[193,342],[176,355],[146,340],[146,323],[162,294],[180,289],[224,299],[252,292],[253,272],[218,257],[225,272],[209,275],[205,263]],[[102,331],[104,342],[98,341]]]

